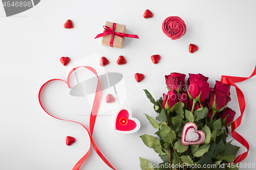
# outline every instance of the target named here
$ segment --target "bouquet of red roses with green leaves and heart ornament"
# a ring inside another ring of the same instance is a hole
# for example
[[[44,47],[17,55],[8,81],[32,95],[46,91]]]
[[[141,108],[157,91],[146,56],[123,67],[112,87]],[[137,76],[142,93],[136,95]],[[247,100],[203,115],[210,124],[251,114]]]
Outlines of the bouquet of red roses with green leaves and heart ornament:
[[[180,73],[165,76],[168,92],[157,101],[144,90],[158,114],[156,120],[145,114],[157,129],[158,137],[147,134],[140,137],[163,162],[154,165],[140,158],[141,168],[238,169],[238,164],[230,163],[239,147],[226,141],[227,127],[236,114],[227,107],[231,100],[230,85],[216,81],[215,87],[210,88],[208,78],[201,74],[189,74],[186,85],[185,76]]]

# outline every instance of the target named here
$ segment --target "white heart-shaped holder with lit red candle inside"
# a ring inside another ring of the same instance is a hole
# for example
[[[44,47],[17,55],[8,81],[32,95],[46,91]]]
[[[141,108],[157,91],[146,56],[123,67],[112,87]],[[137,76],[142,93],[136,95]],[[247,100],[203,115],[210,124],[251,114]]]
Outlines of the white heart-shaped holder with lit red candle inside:
[[[132,110],[129,107],[119,108],[114,120],[114,132],[116,133],[131,134],[140,129],[140,122],[132,117]]]

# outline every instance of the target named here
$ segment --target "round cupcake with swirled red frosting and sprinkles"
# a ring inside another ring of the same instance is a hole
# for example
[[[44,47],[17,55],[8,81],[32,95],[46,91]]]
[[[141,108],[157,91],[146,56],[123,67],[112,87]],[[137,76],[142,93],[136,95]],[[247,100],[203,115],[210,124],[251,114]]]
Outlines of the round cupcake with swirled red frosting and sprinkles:
[[[162,23],[163,33],[172,40],[179,39],[186,33],[185,22],[178,16],[170,16]]]

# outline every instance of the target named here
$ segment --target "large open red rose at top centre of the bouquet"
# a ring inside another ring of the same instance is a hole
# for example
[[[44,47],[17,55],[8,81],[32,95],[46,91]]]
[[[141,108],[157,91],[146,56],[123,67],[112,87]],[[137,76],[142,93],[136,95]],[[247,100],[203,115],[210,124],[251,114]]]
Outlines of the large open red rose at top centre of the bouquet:
[[[189,74],[189,87],[188,87],[188,92],[191,96],[192,99],[196,99],[199,102],[205,101],[207,98],[210,90],[212,88],[209,87],[209,83],[206,81],[208,80],[207,77],[204,77],[201,74]],[[200,95],[200,98],[198,96]]]

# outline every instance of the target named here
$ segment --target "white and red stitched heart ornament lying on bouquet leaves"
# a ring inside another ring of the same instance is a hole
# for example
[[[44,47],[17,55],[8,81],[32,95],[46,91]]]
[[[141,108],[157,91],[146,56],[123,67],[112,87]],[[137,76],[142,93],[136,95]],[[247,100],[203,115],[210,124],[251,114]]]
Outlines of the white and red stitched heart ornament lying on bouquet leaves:
[[[183,127],[181,143],[183,145],[188,144],[200,144],[205,140],[205,134],[203,131],[197,130],[197,125],[195,123],[186,123]]]

